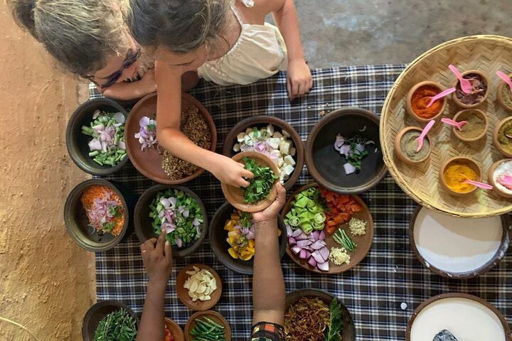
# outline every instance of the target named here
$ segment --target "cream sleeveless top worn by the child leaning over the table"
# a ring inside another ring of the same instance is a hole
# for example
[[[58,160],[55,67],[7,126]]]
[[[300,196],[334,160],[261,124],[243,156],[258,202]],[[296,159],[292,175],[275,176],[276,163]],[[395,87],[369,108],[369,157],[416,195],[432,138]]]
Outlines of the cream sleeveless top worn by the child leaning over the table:
[[[242,0],[252,7],[252,0]],[[198,68],[203,78],[218,85],[247,85],[270,77],[288,66],[287,48],[279,28],[242,23],[234,6],[242,31],[233,47],[222,57],[210,60]]]

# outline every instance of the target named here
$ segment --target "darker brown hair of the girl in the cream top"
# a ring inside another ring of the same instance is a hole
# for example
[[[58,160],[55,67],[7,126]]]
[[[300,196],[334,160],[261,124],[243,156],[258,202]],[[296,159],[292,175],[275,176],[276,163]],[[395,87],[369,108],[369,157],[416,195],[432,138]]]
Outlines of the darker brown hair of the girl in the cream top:
[[[188,53],[219,38],[232,0],[130,0],[129,28],[143,46]]]

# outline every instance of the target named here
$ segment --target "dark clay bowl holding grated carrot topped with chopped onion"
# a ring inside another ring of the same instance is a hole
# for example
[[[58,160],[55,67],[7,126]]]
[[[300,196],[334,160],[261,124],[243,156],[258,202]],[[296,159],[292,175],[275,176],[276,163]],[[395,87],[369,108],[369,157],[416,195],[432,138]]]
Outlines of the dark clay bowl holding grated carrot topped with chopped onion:
[[[110,188],[119,195],[124,207],[124,224],[121,233],[114,236],[110,233],[99,235],[95,229],[88,226],[89,219],[85,214],[80,197],[82,193],[93,185],[101,185]],[[80,247],[88,251],[100,252],[112,249],[123,239],[129,237],[133,231],[132,215],[137,197],[124,188],[120,183],[112,183],[104,179],[85,180],[71,190],[64,205],[64,223],[71,239]]]

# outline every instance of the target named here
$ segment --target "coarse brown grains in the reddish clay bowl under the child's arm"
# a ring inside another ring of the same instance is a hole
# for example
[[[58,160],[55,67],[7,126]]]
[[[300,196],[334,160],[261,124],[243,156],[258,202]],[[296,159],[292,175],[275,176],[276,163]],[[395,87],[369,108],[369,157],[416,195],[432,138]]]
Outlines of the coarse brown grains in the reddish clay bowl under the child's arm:
[[[194,144],[204,149],[210,149],[211,134],[208,124],[197,107],[189,107],[181,113],[181,132]],[[168,151],[164,151],[161,168],[171,180],[186,178],[198,170],[193,163],[176,158]]]

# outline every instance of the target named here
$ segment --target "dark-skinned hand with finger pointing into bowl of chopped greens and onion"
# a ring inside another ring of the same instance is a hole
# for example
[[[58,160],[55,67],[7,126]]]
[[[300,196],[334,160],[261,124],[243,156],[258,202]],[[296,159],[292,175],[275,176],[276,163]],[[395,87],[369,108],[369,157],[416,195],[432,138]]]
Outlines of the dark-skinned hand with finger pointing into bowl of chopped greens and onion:
[[[166,242],[165,229],[158,239],[151,238],[141,245],[142,261],[149,281],[167,284],[172,273],[171,243]]]

